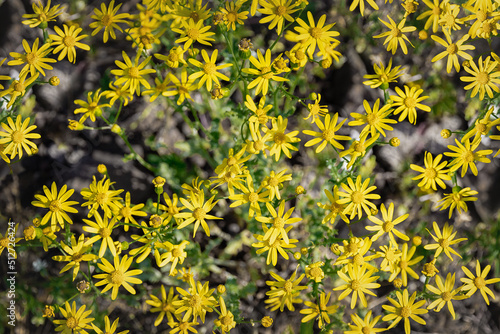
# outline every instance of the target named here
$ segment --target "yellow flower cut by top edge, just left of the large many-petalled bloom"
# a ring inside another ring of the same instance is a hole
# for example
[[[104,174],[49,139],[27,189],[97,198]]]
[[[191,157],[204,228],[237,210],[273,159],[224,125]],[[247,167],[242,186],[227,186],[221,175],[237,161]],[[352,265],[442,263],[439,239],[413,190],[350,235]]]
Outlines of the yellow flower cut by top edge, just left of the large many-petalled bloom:
[[[262,8],[259,9],[259,12],[267,16],[260,19],[259,23],[264,24],[271,22],[267,28],[271,30],[274,29],[274,27],[277,27],[276,32],[278,35],[280,35],[283,31],[283,23],[285,23],[285,20],[289,22],[294,21],[294,18],[290,14],[299,10],[298,8],[295,8],[298,3],[293,0],[270,0],[261,1],[260,3]]]

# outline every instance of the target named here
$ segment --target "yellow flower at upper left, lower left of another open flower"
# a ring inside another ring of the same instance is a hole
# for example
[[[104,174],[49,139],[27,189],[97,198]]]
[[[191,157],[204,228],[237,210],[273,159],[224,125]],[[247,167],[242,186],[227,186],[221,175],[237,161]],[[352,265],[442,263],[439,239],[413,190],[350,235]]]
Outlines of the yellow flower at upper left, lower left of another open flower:
[[[14,65],[24,65],[21,69],[20,76],[24,73],[29,72],[32,77],[36,75],[36,73],[41,73],[45,76],[45,72],[43,69],[52,70],[52,66],[47,63],[55,63],[56,60],[52,58],[46,58],[52,49],[50,48],[50,43],[45,43],[41,48],[38,48],[38,38],[35,39],[33,43],[33,47],[30,47],[28,42],[23,39],[23,48],[26,53],[21,54],[17,52],[11,52],[10,56],[14,58],[14,60],[9,61],[7,64],[9,66]]]

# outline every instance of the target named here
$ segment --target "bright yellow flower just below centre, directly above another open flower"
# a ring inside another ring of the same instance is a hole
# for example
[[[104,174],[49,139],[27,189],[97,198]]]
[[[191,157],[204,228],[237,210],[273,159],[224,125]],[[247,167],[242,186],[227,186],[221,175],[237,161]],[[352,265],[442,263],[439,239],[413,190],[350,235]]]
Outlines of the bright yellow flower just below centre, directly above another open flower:
[[[255,217],[255,219],[261,223],[272,224],[269,230],[265,232],[264,238],[262,240],[263,241],[269,240],[269,242],[272,244],[277,238],[281,236],[285,241],[285,243],[289,244],[290,240],[288,239],[287,229],[285,228],[286,225],[295,224],[302,220],[299,217],[290,218],[295,207],[292,207],[288,209],[287,212],[285,212],[284,200],[280,202],[278,206],[278,211],[276,211],[273,208],[273,206],[269,204],[269,202],[266,203],[266,207],[267,210],[269,210],[269,213],[271,214],[272,218],[262,217],[262,216]]]

